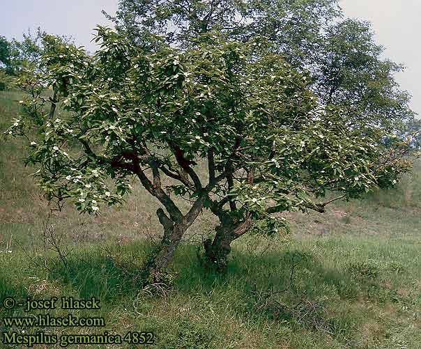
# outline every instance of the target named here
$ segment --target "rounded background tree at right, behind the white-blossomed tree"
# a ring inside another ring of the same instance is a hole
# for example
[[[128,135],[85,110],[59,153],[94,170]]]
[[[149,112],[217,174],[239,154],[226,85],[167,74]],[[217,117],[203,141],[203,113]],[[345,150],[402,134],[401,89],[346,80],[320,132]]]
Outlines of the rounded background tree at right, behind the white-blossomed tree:
[[[312,90],[323,104],[343,109],[350,125],[401,130],[415,116],[408,107],[411,97],[394,78],[403,67],[382,60],[381,54],[383,47],[374,42],[369,23],[332,24],[312,67]]]

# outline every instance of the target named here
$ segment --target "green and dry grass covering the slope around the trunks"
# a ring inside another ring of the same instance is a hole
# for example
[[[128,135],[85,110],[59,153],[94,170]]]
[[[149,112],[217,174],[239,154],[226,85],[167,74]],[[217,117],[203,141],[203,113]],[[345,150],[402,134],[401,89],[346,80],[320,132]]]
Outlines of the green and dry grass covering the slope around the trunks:
[[[16,92],[0,92],[0,132],[17,114],[18,99]],[[139,268],[151,236],[160,234],[156,201],[135,187],[123,207],[98,218],[65,208],[48,228],[63,237],[68,255],[45,254],[48,207],[29,177],[32,169],[22,166],[24,145],[0,138],[0,150],[0,301],[95,296],[99,310],[33,313],[102,316],[106,323],[19,332],[153,331],[156,348],[421,348],[420,164],[392,191],[336,203],[324,215],[285,215],[288,240],[238,240],[222,276],[204,272],[197,261],[214,223],[204,213],[171,265],[174,287],[141,290]],[[28,314],[0,308],[4,316]],[[9,330],[1,320],[0,327]]]

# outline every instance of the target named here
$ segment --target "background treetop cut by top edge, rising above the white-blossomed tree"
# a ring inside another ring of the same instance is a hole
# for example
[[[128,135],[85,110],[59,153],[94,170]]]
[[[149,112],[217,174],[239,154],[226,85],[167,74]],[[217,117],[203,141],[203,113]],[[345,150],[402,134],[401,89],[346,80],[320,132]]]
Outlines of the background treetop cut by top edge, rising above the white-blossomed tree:
[[[236,40],[266,36],[303,64],[321,28],[339,15],[337,0],[120,0],[115,17],[104,14],[133,42],[151,47],[151,35],[188,46],[203,33],[219,30]],[[301,57],[301,59],[298,59]]]

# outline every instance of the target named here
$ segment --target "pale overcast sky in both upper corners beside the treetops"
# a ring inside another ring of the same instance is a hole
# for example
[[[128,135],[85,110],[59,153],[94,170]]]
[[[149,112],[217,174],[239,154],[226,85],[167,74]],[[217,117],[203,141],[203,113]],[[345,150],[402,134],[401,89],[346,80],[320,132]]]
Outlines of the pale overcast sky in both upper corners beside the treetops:
[[[22,38],[27,29],[70,35],[77,45],[95,50],[90,40],[96,24],[107,24],[101,10],[113,14],[117,0],[0,0],[0,36]],[[372,22],[385,57],[406,65],[397,75],[401,87],[413,95],[412,108],[421,116],[421,0],[342,0],[348,17]],[[420,117],[419,116],[419,117]]]

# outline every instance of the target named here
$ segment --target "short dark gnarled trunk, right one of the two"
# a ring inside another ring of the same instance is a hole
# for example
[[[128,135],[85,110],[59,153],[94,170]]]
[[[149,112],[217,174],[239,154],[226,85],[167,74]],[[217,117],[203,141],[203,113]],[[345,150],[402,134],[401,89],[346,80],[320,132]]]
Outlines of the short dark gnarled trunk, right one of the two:
[[[228,255],[231,252],[231,242],[247,233],[252,226],[250,218],[236,225],[221,225],[215,228],[216,234],[213,240],[204,241],[206,265],[218,272],[226,270]]]

